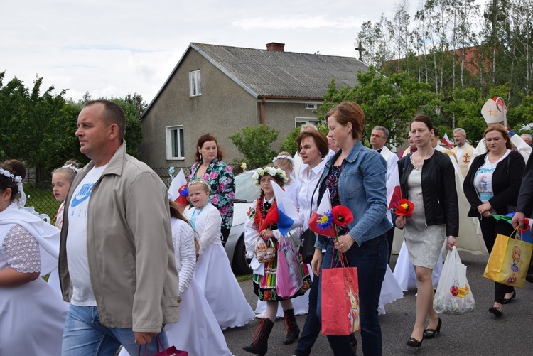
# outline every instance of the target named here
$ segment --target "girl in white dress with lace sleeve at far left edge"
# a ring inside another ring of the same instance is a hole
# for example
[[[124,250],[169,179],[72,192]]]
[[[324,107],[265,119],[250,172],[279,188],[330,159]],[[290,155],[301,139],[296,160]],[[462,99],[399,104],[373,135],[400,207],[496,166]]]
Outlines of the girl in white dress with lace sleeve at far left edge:
[[[67,305],[41,278],[58,265],[60,230],[17,207],[26,176],[0,166],[0,355],[61,354]]]

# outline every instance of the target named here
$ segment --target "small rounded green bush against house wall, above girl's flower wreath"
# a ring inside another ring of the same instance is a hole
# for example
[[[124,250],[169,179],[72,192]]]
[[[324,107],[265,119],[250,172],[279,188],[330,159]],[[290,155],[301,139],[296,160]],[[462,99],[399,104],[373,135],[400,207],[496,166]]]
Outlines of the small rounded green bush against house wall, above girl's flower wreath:
[[[278,131],[268,125],[246,126],[229,139],[244,156],[248,169],[271,163],[277,154],[271,150],[271,144],[278,139]]]

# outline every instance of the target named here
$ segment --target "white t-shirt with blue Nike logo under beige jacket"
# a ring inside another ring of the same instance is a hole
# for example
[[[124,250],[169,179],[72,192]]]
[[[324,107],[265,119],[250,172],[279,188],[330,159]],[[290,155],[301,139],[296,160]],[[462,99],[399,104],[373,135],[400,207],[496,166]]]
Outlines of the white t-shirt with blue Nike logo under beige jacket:
[[[75,306],[96,306],[87,259],[87,207],[92,188],[107,165],[92,168],[77,185],[68,207],[67,263]]]

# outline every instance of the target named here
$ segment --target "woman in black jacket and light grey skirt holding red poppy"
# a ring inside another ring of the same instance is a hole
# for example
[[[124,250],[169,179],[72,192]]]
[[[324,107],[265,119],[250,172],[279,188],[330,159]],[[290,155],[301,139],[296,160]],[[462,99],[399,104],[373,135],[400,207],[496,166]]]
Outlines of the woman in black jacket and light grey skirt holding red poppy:
[[[431,119],[415,117],[411,136],[418,150],[400,159],[398,168],[402,196],[414,203],[414,210],[411,217],[396,217],[395,225],[405,227],[405,244],[418,285],[416,321],[407,345],[420,347],[423,338],[434,338],[441,331],[442,320],[433,309],[431,273],[446,237],[448,248],[457,246],[459,207],[453,163],[448,155],[431,146]],[[429,324],[424,329],[428,315]]]

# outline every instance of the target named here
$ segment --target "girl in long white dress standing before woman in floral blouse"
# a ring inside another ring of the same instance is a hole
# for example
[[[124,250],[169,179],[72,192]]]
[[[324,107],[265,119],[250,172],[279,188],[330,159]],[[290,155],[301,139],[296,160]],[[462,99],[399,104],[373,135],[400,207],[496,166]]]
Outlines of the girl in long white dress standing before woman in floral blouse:
[[[200,239],[193,278],[208,300],[218,325],[224,330],[247,324],[255,314],[233,275],[230,260],[222,247],[222,217],[209,203],[209,192],[210,185],[203,179],[188,183],[188,197],[194,207],[187,211],[187,215]]]

